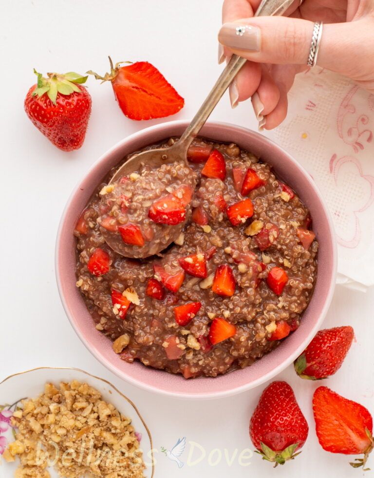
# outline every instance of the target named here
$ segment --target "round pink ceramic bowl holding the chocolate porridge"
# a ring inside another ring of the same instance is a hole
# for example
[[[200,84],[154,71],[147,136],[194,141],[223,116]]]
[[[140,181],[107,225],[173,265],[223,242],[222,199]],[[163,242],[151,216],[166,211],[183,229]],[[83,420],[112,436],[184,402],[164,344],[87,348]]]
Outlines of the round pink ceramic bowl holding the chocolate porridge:
[[[97,184],[126,154],[179,135],[187,127],[185,121],[174,121],[143,129],[117,143],[106,152],[81,181],[63,213],[56,244],[57,285],[62,304],[84,345],[120,378],[146,390],[181,398],[218,398],[258,386],[271,379],[293,360],[311,341],[319,329],[334,291],[337,252],[332,221],[325,202],[310,175],[281,147],[249,129],[224,123],[207,123],[201,136],[217,141],[237,143],[273,165],[281,179],[290,184],[308,206],[313,217],[313,230],[319,241],[318,278],[315,292],[297,331],[280,347],[265,355],[251,367],[236,370],[217,378],[185,380],[163,370],[147,368],[140,363],[128,364],[113,351],[112,342],[93,327],[86,305],[75,286],[75,222],[90,199]]]

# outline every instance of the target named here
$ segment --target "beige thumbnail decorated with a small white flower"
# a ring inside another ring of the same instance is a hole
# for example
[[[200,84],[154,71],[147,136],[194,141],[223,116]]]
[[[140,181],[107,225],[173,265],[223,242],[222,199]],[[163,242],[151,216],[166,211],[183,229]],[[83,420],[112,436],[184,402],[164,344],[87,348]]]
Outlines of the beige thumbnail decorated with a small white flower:
[[[261,32],[258,27],[238,25],[238,23],[224,23],[218,39],[220,43],[237,50],[260,51]]]

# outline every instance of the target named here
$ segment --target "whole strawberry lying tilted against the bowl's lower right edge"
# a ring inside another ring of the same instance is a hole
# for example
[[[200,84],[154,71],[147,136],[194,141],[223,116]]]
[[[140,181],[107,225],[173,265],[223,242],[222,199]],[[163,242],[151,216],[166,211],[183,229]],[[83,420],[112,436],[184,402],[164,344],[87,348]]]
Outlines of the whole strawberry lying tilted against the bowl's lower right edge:
[[[343,363],[354,338],[352,327],[335,327],[317,332],[302,354],[295,360],[301,378],[319,380],[333,375]]]

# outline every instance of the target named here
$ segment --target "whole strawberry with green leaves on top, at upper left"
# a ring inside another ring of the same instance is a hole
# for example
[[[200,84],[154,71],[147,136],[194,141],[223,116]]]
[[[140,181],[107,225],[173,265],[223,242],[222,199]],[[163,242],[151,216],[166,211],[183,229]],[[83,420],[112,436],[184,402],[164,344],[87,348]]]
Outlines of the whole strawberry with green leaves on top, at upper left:
[[[91,114],[91,96],[80,86],[87,76],[77,73],[37,73],[37,84],[25,98],[25,111],[33,124],[55,146],[71,151],[82,146]]]

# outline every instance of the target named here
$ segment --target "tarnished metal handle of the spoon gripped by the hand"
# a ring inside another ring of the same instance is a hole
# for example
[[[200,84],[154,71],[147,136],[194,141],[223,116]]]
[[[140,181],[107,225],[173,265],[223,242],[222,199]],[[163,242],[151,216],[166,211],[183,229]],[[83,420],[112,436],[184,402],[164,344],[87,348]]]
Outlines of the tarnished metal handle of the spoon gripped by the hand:
[[[262,0],[255,13],[255,17],[282,15],[294,0]],[[193,139],[198,135],[200,129],[205,124],[210,113],[222,98],[222,95],[227,90],[228,86],[238,74],[247,60],[238,55],[232,55],[230,61],[227,63],[224,71],[216,81],[212,90],[206,97],[206,100],[201,105],[198,112],[193,117],[191,123],[181,136],[179,143],[184,144],[186,148],[190,146]]]

